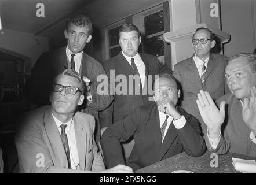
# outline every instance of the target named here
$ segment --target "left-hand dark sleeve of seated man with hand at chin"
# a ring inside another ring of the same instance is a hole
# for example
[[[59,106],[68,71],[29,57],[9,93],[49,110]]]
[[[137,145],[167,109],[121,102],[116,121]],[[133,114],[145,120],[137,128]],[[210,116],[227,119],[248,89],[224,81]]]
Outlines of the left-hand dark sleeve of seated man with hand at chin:
[[[125,116],[123,119],[116,121],[103,133],[101,147],[105,165],[112,168],[118,164],[125,165],[125,158],[122,154],[120,142],[129,139],[140,125],[141,108],[138,107],[134,112]]]

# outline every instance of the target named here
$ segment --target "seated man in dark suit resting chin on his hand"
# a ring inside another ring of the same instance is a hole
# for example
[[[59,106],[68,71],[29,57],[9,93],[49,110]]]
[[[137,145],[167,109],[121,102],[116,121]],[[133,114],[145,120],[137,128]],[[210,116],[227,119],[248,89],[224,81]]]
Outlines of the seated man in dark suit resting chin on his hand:
[[[126,164],[134,171],[185,151],[200,156],[206,150],[195,117],[176,106],[180,90],[171,75],[155,80],[155,102],[137,107],[103,133],[101,147],[107,168]],[[124,160],[120,142],[134,137],[130,157]]]

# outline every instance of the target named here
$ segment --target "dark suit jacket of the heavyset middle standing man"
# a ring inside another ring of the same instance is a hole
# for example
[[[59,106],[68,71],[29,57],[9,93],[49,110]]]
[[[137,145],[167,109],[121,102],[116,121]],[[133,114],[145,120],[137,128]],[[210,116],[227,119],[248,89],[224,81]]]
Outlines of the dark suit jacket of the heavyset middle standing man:
[[[137,84],[140,87],[140,94],[134,95],[134,90],[135,86],[133,85],[133,93],[129,95],[129,75],[136,75],[134,72],[133,68],[131,68],[131,65],[129,62],[126,60],[126,58],[123,56],[122,53],[119,53],[117,56],[110,58],[109,60],[105,61],[103,63],[103,67],[105,69],[105,72],[107,73],[109,77],[109,82],[111,83],[114,82],[114,88],[120,83],[120,82],[115,82],[116,76],[118,75],[124,75],[127,79],[127,94],[114,94],[114,101],[111,104],[111,107],[108,108],[107,110],[103,111],[103,114],[109,115],[108,121],[104,121],[103,123],[106,124],[101,124],[101,127],[108,127],[109,125],[112,124],[112,116],[113,116],[113,121],[117,121],[121,119],[123,116],[126,116],[127,114],[131,113],[134,111],[135,108],[137,108],[140,105],[147,105],[148,103],[152,103],[148,101],[149,97],[152,97],[149,95],[148,90],[152,90],[152,80],[149,75],[159,75],[162,73],[171,73],[171,70],[167,68],[165,65],[161,64],[156,56],[152,56],[149,54],[142,54],[139,53],[142,61],[145,64],[145,75],[146,75],[146,80],[147,80],[147,86],[144,86],[144,90],[142,91],[141,89],[141,84]],[[111,75],[110,70],[114,70],[115,74]],[[153,76],[154,77],[154,76]],[[151,81],[151,83],[150,83]],[[145,92],[145,93],[144,93]],[[113,114],[113,115],[112,115]],[[106,116],[104,116],[106,117]]]

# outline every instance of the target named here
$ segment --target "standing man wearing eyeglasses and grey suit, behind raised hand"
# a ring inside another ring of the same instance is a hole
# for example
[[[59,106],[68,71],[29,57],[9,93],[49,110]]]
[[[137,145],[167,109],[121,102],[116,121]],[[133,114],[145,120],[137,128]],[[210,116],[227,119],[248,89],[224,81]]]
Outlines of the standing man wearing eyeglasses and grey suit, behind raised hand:
[[[211,53],[215,44],[214,33],[210,29],[196,29],[192,37],[195,53],[191,58],[175,64],[173,71],[182,88],[181,106],[200,121],[204,136],[207,127],[196,105],[197,94],[200,90],[207,91],[215,101],[228,92],[224,76],[228,57]]]

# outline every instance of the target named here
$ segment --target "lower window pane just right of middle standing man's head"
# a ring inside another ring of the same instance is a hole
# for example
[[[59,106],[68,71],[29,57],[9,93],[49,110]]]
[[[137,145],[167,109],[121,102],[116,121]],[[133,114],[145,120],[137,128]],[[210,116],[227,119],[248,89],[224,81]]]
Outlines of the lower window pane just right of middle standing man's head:
[[[146,39],[146,51],[154,56],[164,55],[163,34]]]

